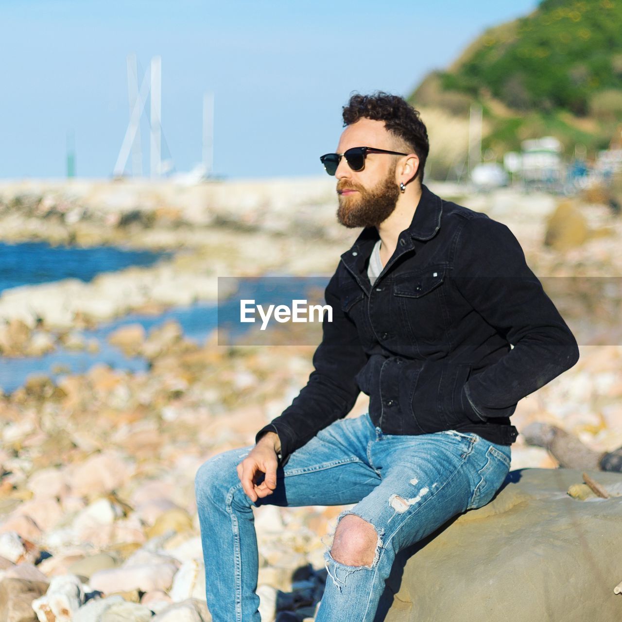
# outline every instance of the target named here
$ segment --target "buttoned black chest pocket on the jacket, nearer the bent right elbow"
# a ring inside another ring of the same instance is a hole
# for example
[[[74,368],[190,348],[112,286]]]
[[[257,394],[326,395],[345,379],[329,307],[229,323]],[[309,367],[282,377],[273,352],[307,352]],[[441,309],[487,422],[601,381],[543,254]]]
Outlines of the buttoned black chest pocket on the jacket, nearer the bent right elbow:
[[[416,340],[444,340],[446,334],[443,282],[447,269],[430,266],[425,271],[394,277],[393,299],[402,323]]]

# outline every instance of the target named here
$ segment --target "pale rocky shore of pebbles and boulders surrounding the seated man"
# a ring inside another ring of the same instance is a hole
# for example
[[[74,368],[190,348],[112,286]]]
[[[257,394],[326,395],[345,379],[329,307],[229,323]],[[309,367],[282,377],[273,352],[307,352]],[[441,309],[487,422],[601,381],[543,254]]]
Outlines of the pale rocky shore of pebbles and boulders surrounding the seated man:
[[[16,192],[3,185],[4,241],[176,252],[156,266],[88,284],[4,292],[0,353],[37,355],[45,343],[58,346],[81,328],[129,310],[156,313],[213,300],[217,276],[330,274],[356,232],[335,224],[332,186],[305,183],[266,183],[256,192],[250,182],[245,190],[220,183],[200,190],[140,186],[140,192],[124,182],[108,183],[112,190],[85,184],[80,192],[45,184],[19,185]],[[432,190],[458,198],[455,188]],[[101,198],[111,195],[125,203],[111,207]],[[551,279],[545,287],[581,277],[600,288],[595,298],[589,288],[577,294],[558,287],[564,317],[580,332],[585,325],[581,359],[522,400],[514,424],[519,430],[532,422],[557,425],[598,451],[620,447],[620,299],[615,288],[601,289],[602,279],[622,277],[620,222],[604,205],[577,202],[570,210],[581,216],[579,233],[558,226],[552,243],[557,198],[501,190],[460,202],[508,224],[534,272]],[[216,453],[251,445],[312,369],[312,347],[225,348],[215,334],[197,345],[174,322],[151,332],[125,327],[109,339],[147,358],[149,371],[101,364],[57,383],[35,376],[0,397],[0,622],[210,620],[195,472]],[[350,416],[365,411],[361,396]],[[513,469],[556,466],[546,450],[522,437],[513,446]],[[342,509],[256,510],[262,620],[313,620],[325,582],[320,538],[332,532]]]

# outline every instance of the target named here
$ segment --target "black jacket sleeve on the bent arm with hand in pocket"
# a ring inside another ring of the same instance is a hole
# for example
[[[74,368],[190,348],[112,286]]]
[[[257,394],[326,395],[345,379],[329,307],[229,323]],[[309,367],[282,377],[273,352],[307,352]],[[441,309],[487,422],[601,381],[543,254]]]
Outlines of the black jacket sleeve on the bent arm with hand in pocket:
[[[488,217],[467,221],[454,266],[462,296],[513,346],[465,383],[462,401],[474,420],[508,417],[522,397],[577,362],[577,341],[506,225]]]

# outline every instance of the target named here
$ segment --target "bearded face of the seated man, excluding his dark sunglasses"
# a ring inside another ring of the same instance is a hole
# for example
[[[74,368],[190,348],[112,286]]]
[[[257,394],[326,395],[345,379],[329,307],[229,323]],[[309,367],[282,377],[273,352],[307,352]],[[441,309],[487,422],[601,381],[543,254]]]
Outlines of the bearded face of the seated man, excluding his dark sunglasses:
[[[384,128],[384,121],[360,119],[349,125],[341,134],[337,153],[342,154],[351,147],[376,147],[389,151],[397,149],[399,143]],[[399,156],[370,153],[365,159],[363,170],[352,170],[345,157],[341,158],[335,177],[339,208],[337,220],[349,228],[378,227],[395,209],[399,197],[396,182],[396,165]]]

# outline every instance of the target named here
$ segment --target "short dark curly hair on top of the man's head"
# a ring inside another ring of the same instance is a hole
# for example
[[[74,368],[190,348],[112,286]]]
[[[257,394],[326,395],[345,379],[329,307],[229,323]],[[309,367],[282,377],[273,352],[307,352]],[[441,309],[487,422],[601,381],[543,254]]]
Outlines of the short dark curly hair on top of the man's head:
[[[356,123],[361,118],[384,121],[384,127],[391,134],[411,147],[419,157],[419,169],[414,179],[419,177],[419,182],[423,183],[430,144],[419,111],[403,98],[383,91],[376,91],[372,95],[355,93],[350,96],[348,104],[343,106],[343,126]]]

